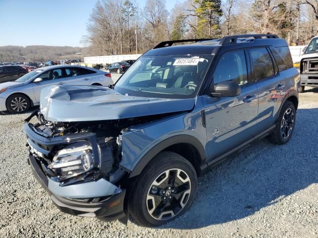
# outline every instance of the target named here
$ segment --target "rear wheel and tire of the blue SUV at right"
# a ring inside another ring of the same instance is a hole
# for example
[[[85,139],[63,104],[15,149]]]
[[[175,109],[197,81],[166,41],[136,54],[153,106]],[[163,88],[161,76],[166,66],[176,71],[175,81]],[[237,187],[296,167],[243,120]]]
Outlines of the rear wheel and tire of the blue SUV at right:
[[[293,135],[295,123],[295,106],[292,102],[286,101],[276,122],[276,127],[271,135],[272,142],[276,145],[287,143]]]

